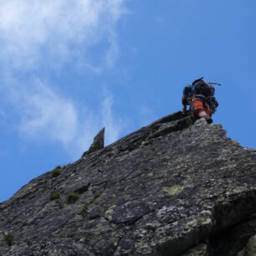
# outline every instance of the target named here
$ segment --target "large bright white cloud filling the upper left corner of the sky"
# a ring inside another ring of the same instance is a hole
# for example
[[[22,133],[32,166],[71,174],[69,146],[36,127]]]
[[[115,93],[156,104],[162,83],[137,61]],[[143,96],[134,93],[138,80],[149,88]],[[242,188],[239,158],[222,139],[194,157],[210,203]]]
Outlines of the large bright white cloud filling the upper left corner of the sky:
[[[2,0],[0,61],[15,69],[83,59],[101,40],[109,42],[102,60],[112,66],[118,54],[115,23],[125,0]],[[81,57],[83,56],[83,57]]]

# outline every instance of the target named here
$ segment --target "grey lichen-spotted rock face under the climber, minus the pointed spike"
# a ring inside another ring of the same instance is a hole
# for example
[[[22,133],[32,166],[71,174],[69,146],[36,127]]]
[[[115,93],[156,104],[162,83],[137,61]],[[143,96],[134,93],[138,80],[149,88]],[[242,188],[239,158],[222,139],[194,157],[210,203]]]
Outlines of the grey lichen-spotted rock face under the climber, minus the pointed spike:
[[[255,253],[255,173],[256,150],[177,112],[1,203],[0,254]]]

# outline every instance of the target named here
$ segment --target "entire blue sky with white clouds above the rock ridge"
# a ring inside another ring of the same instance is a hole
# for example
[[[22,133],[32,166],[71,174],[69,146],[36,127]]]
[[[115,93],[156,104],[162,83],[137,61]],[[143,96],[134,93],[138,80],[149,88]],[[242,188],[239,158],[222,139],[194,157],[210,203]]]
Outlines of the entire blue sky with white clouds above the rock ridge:
[[[216,86],[228,137],[256,148],[254,0],[3,0],[0,202],[73,162],[105,126],[110,144]]]

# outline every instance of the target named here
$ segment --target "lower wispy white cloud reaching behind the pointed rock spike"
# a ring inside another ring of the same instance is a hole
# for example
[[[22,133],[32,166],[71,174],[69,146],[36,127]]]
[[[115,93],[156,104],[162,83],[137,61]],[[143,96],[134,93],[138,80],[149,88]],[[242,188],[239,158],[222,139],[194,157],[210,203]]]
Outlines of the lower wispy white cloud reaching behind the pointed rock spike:
[[[17,129],[28,139],[60,142],[72,156],[79,156],[102,127],[105,127],[105,145],[120,136],[121,122],[113,114],[114,100],[110,94],[105,94],[98,113],[75,105],[40,80],[21,88],[20,84],[12,85],[8,97],[13,99],[19,115]]]

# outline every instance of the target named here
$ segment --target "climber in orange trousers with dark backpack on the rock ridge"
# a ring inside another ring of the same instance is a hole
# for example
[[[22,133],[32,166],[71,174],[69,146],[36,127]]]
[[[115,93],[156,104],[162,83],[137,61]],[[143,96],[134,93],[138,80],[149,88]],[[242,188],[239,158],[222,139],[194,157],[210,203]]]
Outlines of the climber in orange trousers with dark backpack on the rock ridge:
[[[211,116],[218,107],[218,101],[214,97],[215,89],[212,84],[217,83],[207,83],[202,77],[195,80],[192,85],[185,86],[182,95],[182,112],[186,113],[187,105],[189,105],[192,115],[205,118],[208,124],[212,123]]]

